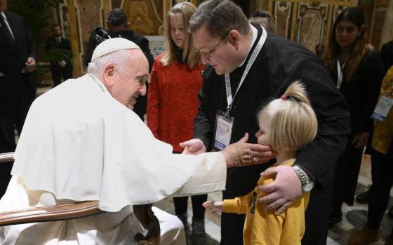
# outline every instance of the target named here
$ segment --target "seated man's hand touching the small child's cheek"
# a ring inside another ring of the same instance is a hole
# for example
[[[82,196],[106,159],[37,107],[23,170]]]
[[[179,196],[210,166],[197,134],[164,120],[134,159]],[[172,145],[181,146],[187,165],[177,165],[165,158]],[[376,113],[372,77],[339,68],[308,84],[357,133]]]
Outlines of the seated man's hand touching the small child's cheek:
[[[230,144],[221,151],[227,162],[227,167],[238,167],[244,165],[255,165],[262,162],[269,162],[276,154],[270,146],[247,143],[248,133],[244,134],[234,144]]]

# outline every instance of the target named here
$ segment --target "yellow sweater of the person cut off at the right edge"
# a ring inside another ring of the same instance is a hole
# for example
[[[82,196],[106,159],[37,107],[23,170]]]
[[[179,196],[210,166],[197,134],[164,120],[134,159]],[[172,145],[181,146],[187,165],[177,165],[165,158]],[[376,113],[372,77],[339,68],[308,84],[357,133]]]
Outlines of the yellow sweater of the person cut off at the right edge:
[[[393,99],[393,66],[387,70],[382,80],[380,97],[382,94]],[[393,139],[393,107],[390,108],[385,121],[374,120],[373,148],[383,154],[387,154]]]

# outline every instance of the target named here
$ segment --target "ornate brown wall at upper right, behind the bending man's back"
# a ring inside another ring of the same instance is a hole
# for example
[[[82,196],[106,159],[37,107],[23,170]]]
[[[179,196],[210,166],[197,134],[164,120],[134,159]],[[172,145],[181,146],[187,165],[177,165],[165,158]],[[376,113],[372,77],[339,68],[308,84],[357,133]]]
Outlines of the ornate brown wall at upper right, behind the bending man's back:
[[[302,43],[314,51],[325,44],[337,15],[349,6],[365,11],[368,42],[376,49],[393,39],[393,1],[388,0],[256,0],[255,10],[269,10],[276,19],[276,34]]]

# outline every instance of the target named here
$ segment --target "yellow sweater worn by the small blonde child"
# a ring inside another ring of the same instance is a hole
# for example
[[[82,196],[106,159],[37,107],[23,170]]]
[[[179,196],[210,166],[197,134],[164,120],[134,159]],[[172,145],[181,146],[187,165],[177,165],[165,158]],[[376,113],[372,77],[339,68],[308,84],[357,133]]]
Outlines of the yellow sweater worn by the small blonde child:
[[[288,166],[293,165],[289,162]],[[258,186],[272,183],[274,179],[262,179]],[[300,245],[300,240],[305,234],[305,210],[309,201],[309,193],[305,193],[292,203],[288,209],[279,216],[274,210],[267,211],[265,204],[258,203],[262,193],[255,189],[243,197],[224,200],[224,211],[227,213],[246,214],[244,222],[244,245]]]

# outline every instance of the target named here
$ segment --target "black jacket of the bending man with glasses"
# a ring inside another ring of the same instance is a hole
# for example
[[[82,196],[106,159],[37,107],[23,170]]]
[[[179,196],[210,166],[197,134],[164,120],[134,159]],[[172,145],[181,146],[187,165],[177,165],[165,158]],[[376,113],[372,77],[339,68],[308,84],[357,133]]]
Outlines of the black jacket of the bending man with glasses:
[[[258,29],[258,41],[262,29],[258,25],[255,27]],[[251,48],[245,64],[256,43]],[[240,67],[229,75],[232,94],[233,90],[237,89],[243,70],[244,67]],[[306,85],[319,122],[316,139],[300,151],[296,163],[316,181],[316,188],[321,189],[331,181],[335,162],[345,147],[349,132],[349,114],[345,99],[335,89],[321,59],[302,45],[274,34],[267,34],[262,50],[234,98],[231,142],[239,141],[244,133],[248,132],[248,141],[256,143],[258,109],[269,97],[280,97],[295,80],[301,80]],[[216,112],[225,111],[227,107],[225,76],[218,76],[211,66],[206,66],[204,71],[199,98],[201,105],[194,120],[194,137],[204,141],[210,150]],[[266,165],[256,165],[228,169],[226,196],[236,197],[248,193],[260,178],[260,170],[265,168]]]

